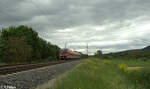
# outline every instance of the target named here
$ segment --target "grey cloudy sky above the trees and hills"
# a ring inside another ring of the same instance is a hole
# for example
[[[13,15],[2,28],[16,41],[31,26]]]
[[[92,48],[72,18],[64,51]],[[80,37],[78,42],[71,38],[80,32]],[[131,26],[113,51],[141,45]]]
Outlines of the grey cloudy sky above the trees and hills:
[[[90,54],[150,45],[150,0],[0,0],[0,28],[27,25],[40,37]]]

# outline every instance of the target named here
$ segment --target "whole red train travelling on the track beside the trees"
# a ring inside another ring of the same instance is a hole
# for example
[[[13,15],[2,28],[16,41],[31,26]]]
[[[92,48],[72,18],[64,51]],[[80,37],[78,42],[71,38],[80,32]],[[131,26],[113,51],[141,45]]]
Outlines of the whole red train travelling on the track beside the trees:
[[[71,51],[69,49],[61,49],[59,51],[59,59],[79,59],[81,54],[76,51]]]

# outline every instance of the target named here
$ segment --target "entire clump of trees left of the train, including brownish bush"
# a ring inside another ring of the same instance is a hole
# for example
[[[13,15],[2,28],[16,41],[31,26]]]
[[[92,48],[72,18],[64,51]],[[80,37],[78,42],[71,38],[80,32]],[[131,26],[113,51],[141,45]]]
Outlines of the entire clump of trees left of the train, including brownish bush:
[[[3,28],[0,31],[0,62],[30,63],[56,60],[57,45],[38,36],[27,26]]]

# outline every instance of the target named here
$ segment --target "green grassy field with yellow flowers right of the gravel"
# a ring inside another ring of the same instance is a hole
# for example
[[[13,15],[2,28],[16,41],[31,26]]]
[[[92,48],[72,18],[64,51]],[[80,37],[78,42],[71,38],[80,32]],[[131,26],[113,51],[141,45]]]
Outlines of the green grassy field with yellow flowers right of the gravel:
[[[45,89],[150,89],[149,70],[128,70],[134,62],[87,59]]]

